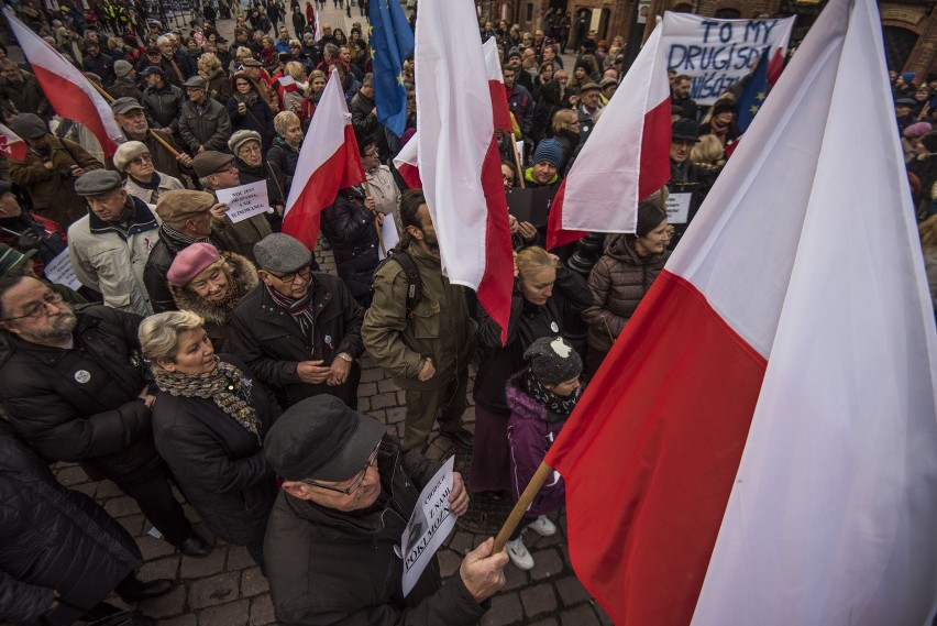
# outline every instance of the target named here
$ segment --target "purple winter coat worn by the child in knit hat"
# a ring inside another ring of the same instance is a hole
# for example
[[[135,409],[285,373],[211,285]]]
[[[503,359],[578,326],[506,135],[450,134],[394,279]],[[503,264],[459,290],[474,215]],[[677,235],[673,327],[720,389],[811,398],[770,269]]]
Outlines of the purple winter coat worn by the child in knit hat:
[[[510,446],[510,487],[515,499],[520,497],[537,469],[560,435],[565,419],[550,419],[547,407],[530,397],[523,387],[527,370],[508,378],[505,395],[510,407],[508,419],[508,444]],[[556,510],[565,504],[566,484],[558,472],[543,483],[523,514],[539,517]]]

